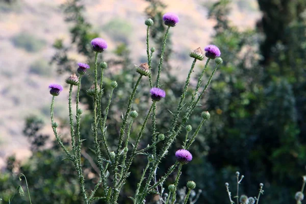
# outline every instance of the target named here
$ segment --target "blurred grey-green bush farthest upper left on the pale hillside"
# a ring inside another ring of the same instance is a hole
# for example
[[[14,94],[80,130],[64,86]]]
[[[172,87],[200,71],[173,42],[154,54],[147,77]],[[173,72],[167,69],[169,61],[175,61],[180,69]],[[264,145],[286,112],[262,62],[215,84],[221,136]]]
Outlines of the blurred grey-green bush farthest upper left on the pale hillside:
[[[38,52],[46,44],[44,40],[24,32],[15,35],[11,40],[16,47],[25,49],[30,53]]]

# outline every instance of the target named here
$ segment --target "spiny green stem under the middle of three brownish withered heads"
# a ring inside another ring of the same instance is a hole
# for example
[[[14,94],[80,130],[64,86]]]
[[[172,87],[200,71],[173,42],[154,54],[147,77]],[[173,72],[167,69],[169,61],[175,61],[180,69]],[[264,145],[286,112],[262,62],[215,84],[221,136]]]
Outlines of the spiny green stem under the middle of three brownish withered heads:
[[[132,92],[132,94],[130,96],[130,99],[129,99],[129,103],[127,104],[127,110],[126,110],[125,115],[123,117],[122,125],[120,127],[120,136],[119,136],[118,146],[117,146],[117,150],[116,150],[116,158],[115,158],[115,165],[114,165],[114,176],[115,176],[114,186],[117,186],[117,182],[118,182],[117,181],[117,171],[118,171],[118,163],[119,163],[119,158],[120,158],[119,151],[120,151],[122,140],[123,140],[125,125],[126,125],[127,119],[129,119],[129,114],[132,110],[133,99],[134,99],[134,96],[136,94],[137,87],[138,87],[138,85],[141,81],[141,78],[142,78],[142,75],[139,76],[139,78],[138,78],[138,80],[137,80],[137,82],[134,86],[133,92]]]

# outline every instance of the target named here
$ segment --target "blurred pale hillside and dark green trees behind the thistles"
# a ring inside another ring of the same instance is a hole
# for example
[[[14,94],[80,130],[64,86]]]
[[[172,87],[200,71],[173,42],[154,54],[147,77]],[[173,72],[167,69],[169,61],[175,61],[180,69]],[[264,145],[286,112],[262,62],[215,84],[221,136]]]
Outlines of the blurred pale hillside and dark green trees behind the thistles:
[[[157,50],[152,62],[156,67],[165,12],[179,15],[180,22],[170,29],[164,58],[162,83],[167,97],[158,107],[159,132],[165,133],[170,125],[167,110],[173,110],[181,95],[192,63],[190,50],[213,43],[223,59],[202,106],[189,121],[196,129],[203,110],[212,115],[191,149],[194,160],[184,166],[180,187],[194,180],[202,190],[197,203],[228,203],[224,183],[230,183],[235,194],[235,172],[240,171],[245,176],[241,193],[257,196],[259,183],[263,183],[261,203],[295,202],[306,164],[304,0],[0,0],[0,198],[4,203],[20,185],[19,173],[28,178],[33,203],[81,203],[74,167],[63,160],[65,155],[54,142],[49,121],[52,97],[47,86],[64,85],[77,62],[93,65],[89,42],[94,37],[104,38],[109,48],[99,60],[109,64],[105,96],[111,81],[119,84],[108,117],[109,143],[115,148],[121,112],[137,77],[134,64],[146,62],[144,20],[149,17],[155,21],[150,44]],[[191,87],[204,65],[196,64]],[[82,137],[87,147],[82,155],[88,189],[98,180],[89,162],[93,156],[89,149],[92,100],[85,94],[92,76],[90,69],[81,90]],[[139,121],[133,126],[132,138],[147,111],[148,90],[144,80],[133,105]],[[67,98],[64,87],[55,105],[64,138],[69,132]],[[103,98],[103,104],[107,99]],[[180,148],[184,134],[169,152]],[[145,147],[149,140],[140,145]],[[66,142],[69,145],[68,137]],[[134,163],[120,203],[131,203],[127,197],[134,194],[135,180],[140,179],[146,161],[139,156]],[[174,161],[169,154],[158,175]],[[172,174],[165,186],[174,179]],[[24,182],[21,185],[25,189]],[[155,199],[149,196],[147,202],[155,203]],[[12,203],[28,202],[25,196],[15,196]]]

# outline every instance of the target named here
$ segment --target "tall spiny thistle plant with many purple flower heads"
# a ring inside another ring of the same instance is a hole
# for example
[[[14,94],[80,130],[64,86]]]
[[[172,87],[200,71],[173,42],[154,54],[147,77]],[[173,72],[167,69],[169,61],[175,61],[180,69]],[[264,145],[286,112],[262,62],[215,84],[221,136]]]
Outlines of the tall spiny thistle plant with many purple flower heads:
[[[86,176],[84,175],[84,168],[82,167],[82,155],[81,151],[83,148],[83,141],[86,138],[81,138],[80,129],[82,128],[81,116],[83,111],[79,107],[79,97],[80,97],[80,87],[82,86],[81,79],[86,77],[85,73],[89,69],[89,65],[84,63],[78,63],[76,67],[76,72],[79,75],[72,74],[66,79],[66,83],[69,85],[69,99],[68,99],[68,108],[69,108],[69,125],[70,125],[70,143],[71,146],[65,146],[63,139],[61,138],[58,130],[58,123],[55,122],[54,118],[54,101],[56,96],[63,91],[63,87],[58,84],[51,84],[50,94],[52,94],[52,103],[50,108],[51,123],[54,135],[58,144],[65,151],[67,155],[67,160],[71,161],[77,171],[79,183],[81,187],[81,193],[83,196],[84,203],[92,203],[94,200],[102,199],[104,203],[115,204],[120,196],[120,192],[126,182],[127,177],[130,175],[130,168],[133,164],[135,158],[142,154],[147,156],[147,164],[142,170],[141,179],[137,183],[137,189],[135,190],[135,195],[131,197],[134,203],[144,203],[145,199],[149,194],[158,194],[159,203],[195,203],[198,195],[196,195],[193,190],[196,187],[196,184],[192,181],[187,183],[188,191],[183,193],[182,197],[181,190],[177,190],[180,182],[180,175],[183,168],[188,168],[188,163],[192,162],[192,154],[189,151],[192,143],[195,141],[199,130],[206,120],[210,118],[208,111],[202,112],[202,120],[196,127],[195,131],[192,133],[192,127],[188,125],[188,120],[192,115],[193,111],[198,108],[199,100],[205,94],[208,89],[213,75],[215,74],[218,66],[222,63],[220,58],[220,50],[215,45],[208,45],[205,47],[205,54],[202,53],[201,48],[197,48],[189,53],[189,56],[193,58],[193,62],[189,69],[185,86],[182,90],[182,95],[178,101],[177,107],[174,110],[171,110],[172,120],[169,129],[165,133],[160,133],[157,129],[157,112],[159,111],[159,106],[161,106],[160,101],[163,98],[167,97],[166,89],[167,87],[162,86],[162,69],[163,69],[163,57],[165,55],[166,40],[170,32],[170,28],[173,28],[179,23],[179,17],[173,13],[166,13],[163,16],[164,24],[167,26],[167,30],[164,35],[164,40],[162,44],[161,57],[159,60],[158,67],[151,67],[151,60],[154,57],[155,52],[154,47],[149,47],[149,29],[150,26],[154,23],[153,20],[145,20],[147,25],[147,36],[146,36],[146,54],[147,62],[141,63],[139,66],[136,66],[136,72],[139,73],[138,80],[134,83],[133,91],[130,94],[129,99],[126,102],[126,111],[122,114],[122,121],[120,130],[118,132],[118,142],[117,146],[113,148],[108,143],[107,140],[107,117],[109,109],[112,105],[112,97],[114,89],[124,89],[120,87],[120,84],[113,81],[110,83],[111,92],[110,94],[104,94],[104,70],[108,67],[106,62],[98,62],[98,55],[103,55],[107,50],[107,42],[102,38],[95,38],[91,41],[91,47],[95,53],[94,61],[94,81],[92,86],[87,90],[87,94],[92,96],[93,103],[93,122],[92,130],[88,131],[88,137],[93,138],[93,146],[88,148],[92,149],[94,152],[94,161],[96,166],[99,169],[99,180],[93,189],[87,189],[85,186]],[[172,29],[171,29],[172,30]],[[205,56],[207,57],[205,68],[201,71],[196,87],[189,87],[190,80],[192,78],[192,73],[195,69],[195,64],[197,61],[202,61]],[[208,81],[203,85],[203,74],[209,68],[209,62],[215,61],[215,66],[210,75]],[[99,65],[99,66],[98,66]],[[98,75],[98,68],[100,68]],[[151,69],[157,69],[155,73],[157,75],[151,74]],[[92,68],[90,68],[92,69]],[[142,82],[143,78],[149,79],[149,84]],[[155,80],[155,83],[153,82]],[[140,85],[141,84],[141,85]],[[75,96],[76,109],[72,110],[72,91],[73,87],[77,87],[77,94]],[[134,98],[137,91],[140,87],[149,86],[150,87],[150,100],[148,103],[148,109],[146,115],[139,115],[135,110],[133,110]],[[186,100],[187,90],[192,89],[191,100]],[[105,105],[104,110],[101,109],[101,97],[108,97],[108,103]],[[118,113],[120,114],[120,113]],[[164,113],[167,114],[167,113]],[[73,119],[75,115],[75,119]],[[133,129],[133,123],[138,122],[139,118],[143,118],[141,129],[139,130],[136,139],[134,141],[130,140],[130,136]],[[149,123],[150,121],[150,123]],[[151,124],[149,126],[148,124]],[[182,149],[177,150],[176,152],[169,152],[170,147],[173,142],[176,140],[177,136],[181,134],[183,128],[186,129],[185,140],[182,141]],[[145,135],[146,130],[151,130],[150,135]],[[190,134],[190,136],[189,136]],[[151,138],[150,144],[147,147],[139,149],[139,144],[143,138]],[[132,145],[130,145],[132,144]],[[161,148],[158,148],[157,144],[162,144]],[[170,153],[169,156],[168,153]],[[165,157],[176,157],[176,162],[164,173],[161,177],[157,178],[157,169],[161,164],[161,161]],[[174,171],[177,171],[175,182],[171,184],[168,189],[169,192],[165,193],[165,188],[163,188],[164,182],[167,178],[172,175]],[[241,179],[242,180],[242,179]],[[102,189],[103,194],[96,195],[98,189]],[[186,189],[186,188],[185,188]],[[184,191],[185,192],[185,191]],[[177,194],[179,197],[177,198]],[[178,201],[181,200],[181,201]]]

